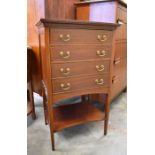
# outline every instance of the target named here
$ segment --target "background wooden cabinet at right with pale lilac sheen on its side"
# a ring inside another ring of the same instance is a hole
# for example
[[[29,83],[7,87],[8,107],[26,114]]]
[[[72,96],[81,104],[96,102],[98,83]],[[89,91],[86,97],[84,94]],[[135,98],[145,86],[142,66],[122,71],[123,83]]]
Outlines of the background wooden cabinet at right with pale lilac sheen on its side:
[[[127,4],[122,0],[95,0],[75,3],[76,19],[119,23],[113,59],[111,99],[127,86]]]

